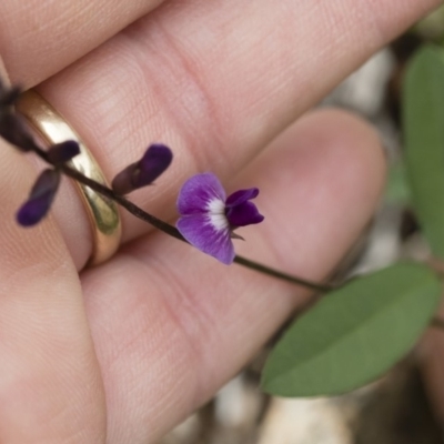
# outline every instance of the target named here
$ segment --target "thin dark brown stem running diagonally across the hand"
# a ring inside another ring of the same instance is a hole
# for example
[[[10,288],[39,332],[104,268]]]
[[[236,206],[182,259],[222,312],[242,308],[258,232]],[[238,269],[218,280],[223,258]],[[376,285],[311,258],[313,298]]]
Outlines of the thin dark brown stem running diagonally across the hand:
[[[48,159],[47,152],[44,150],[36,147],[34,152],[37,155],[39,155],[46,162],[51,164],[50,160]],[[147,211],[142,210],[140,206],[138,206],[134,203],[132,203],[131,201],[129,201],[127,198],[124,198],[120,194],[117,194],[112,189],[110,189],[105,185],[102,185],[101,183],[95,182],[94,180],[92,180],[90,178],[87,178],[81,172],[72,169],[68,164],[58,165],[57,168],[59,168],[60,171],[62,171],[65,175],[70,176],[71,179],[82,183],[85,186],[91,188],[92,190],[102,194],[107,199],[110,199],[110,200],[117,202],[119,205],[123,206],[128,212],[130,212],[135,218],[141,219],[142,221],[153,225],[158,230],[163,231],[164,233],[167,233],[182,242],[186,242],[186,240],[182,236],[182,234],[179,232],[179,230],[175,226],[148,213]],[[295,285],[305,286],[306,289],[314,290],[314,291],[317,291],[321,293],[326,293],[329,291],[334,290],[333,285],[312,282],[306,279],[294,276],[294,275],[284,273],[280,270],[275,270],[275,269],[272,269],[264,264],[261,264],[259,262],[251,261],[250,259],[246,259],[246,258],[243,258],[240,255],[236,255],[234,258],[234,262],[239,265],[245,266],[250,270],[254,270],[259,273],[266,274],[269,276],[273,276],[273,278],[280,279],[282,281],[295,284]]]

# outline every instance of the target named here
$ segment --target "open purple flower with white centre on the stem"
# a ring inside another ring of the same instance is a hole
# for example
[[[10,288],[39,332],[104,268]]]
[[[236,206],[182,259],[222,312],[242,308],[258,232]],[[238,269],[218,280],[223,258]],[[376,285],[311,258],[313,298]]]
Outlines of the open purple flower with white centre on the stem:
[[[212,173],[196,174],[182,186],[178,198],[181,215],[176,226],[188,242],[224,264],[234,260],[232,239],[238,226],[262,222],[254,203],[256,188],[240,190],[229,195]],[[242,239],[242,238],[240,238]]]

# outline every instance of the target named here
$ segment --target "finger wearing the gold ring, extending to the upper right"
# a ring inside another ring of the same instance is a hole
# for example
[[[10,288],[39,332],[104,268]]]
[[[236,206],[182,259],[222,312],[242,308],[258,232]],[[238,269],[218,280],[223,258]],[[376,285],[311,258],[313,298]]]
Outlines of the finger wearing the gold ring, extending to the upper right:
[[[152,141],[172,147],[158,186],[131,198],[173,220],[196,171],[233,175],[279,131],[436,1],[176,2],[159,8],[42,85],[112,178]],[[77,220],[64,239],[89,258]],[[83,224],[83,225],[82,225]],[[123,241],[148,226],[123,213]],[[79,231],[79,232],[78,232]]]

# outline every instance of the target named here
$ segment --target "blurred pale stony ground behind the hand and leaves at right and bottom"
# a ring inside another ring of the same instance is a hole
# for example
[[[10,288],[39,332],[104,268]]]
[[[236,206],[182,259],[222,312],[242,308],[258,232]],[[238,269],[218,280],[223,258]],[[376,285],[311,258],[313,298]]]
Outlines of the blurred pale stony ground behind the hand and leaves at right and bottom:
[[[427,254],[408,210],[401,121],[405,65],[425,42],[444,44],[444,7],[382,49],[320,103],[352,110],[372,122],[390,162],[385,196],[369,231],[337,271],[341,276]],[[424,391],[417,352],[380,381],[347,395],[278,398],[259,387],[273,341],[159,444],[444,444]]]

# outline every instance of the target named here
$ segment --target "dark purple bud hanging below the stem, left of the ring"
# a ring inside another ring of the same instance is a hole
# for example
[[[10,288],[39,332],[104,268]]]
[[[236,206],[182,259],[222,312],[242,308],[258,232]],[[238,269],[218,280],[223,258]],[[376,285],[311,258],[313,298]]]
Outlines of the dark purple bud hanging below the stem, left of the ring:
[[[36,225],[46,216],[54,200],[59,183],[60,173],[56,170],[44,170],[39,175],[29,199],[17,212],[17,221],[20,225]]]

